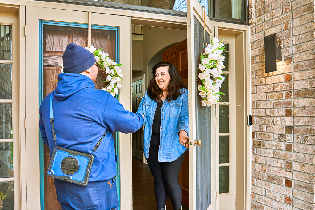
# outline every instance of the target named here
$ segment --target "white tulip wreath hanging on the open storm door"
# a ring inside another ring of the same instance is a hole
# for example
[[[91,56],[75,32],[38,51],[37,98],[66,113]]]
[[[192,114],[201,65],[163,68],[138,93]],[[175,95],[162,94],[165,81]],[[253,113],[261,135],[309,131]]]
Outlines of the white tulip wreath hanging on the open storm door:
[[[211,106],[221,99],[219,91],[221,84],[224,81],[222,76],[222,69],[224,55],[222,52],[225,50],[225,46],[222,42],[219,43],[219,39],[214,37],[211,39],[211,43],[204,48],[204,53],[201,54],[199,70],[201,71],[198,78],[201,81],[201,85],[198,85],[199,95],[202,97],[201,105]]]

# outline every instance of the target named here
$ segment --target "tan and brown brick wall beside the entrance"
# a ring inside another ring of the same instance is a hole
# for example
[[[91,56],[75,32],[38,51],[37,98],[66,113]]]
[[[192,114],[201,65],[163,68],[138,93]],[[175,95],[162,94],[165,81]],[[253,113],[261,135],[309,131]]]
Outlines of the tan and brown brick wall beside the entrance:
[[[252,209],[315,209],[314,0],[249,0]],[[264,36],[284,64],[264,72]]]

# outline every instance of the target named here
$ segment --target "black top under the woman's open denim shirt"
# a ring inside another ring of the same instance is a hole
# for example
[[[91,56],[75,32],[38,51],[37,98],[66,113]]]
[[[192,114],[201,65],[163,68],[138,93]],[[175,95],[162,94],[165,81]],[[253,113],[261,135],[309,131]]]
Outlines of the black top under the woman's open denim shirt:
[[[157,103],[157,108],[154,113],[152,122],[152,135],[150,141],[149,151],[158,151],[160,146],[160,129],[161,129],[161,109],[163,102]]]

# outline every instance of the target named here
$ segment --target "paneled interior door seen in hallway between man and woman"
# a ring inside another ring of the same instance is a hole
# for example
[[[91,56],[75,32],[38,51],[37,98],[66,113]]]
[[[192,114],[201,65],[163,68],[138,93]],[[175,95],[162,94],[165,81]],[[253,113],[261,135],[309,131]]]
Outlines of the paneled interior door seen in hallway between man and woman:
[[[136,113],[144,95],[144,77],[131,83],[131,107]],[[143,158],[143,126],[132,133],[132,156],[142,161]]]

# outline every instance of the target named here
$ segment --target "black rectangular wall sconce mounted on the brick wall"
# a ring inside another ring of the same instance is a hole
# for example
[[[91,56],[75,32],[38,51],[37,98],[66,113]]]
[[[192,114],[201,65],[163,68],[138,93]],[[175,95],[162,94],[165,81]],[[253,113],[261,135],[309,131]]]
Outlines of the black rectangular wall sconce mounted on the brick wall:
[[[277,41],[275,33],[265,37],[265,73],[277,71],[277,61],[282,60],[281,42]]]

